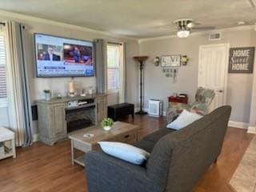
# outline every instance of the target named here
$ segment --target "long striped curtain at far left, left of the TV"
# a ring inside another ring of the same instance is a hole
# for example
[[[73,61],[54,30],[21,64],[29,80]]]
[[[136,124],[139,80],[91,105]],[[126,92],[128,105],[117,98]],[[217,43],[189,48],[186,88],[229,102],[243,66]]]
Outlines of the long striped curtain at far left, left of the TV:
[[[24,49],[25,30],[18,22],[5,23],[10,129],[15,132],[16,146],[29,146],[33,142],[33,124]]]

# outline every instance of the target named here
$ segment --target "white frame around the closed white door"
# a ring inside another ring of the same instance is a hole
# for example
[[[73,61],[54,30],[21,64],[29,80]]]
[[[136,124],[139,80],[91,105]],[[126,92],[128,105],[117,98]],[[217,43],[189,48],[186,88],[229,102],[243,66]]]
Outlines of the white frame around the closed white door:
[[[218,44],[209,44],[209,45],[202,45],[199,46],[199,58],[198,58],[198,85],[199,85],[199,67],[202,64],[202,49],[203,48],[210,48],[216,46],[226,46],[226,62],[225,62],[225,77],[224,77],[224,87],[223,87],[223,97],[224,97],[224,105],[226,105],[226,90],[227,90],[227,76],[228,76],[228,64],[229,64],[229,57],[230,57],[230,43],[218,43]]]

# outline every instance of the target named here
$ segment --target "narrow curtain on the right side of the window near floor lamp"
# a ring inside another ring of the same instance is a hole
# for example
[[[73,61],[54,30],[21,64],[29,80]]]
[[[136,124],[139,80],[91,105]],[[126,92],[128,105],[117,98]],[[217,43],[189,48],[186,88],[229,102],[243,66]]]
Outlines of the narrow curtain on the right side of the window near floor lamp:
[[[119,70],[119,89],[118,103],[126,102],[126,55],[125,43],[122,42],[119,47],[120,53],[120,70]]]

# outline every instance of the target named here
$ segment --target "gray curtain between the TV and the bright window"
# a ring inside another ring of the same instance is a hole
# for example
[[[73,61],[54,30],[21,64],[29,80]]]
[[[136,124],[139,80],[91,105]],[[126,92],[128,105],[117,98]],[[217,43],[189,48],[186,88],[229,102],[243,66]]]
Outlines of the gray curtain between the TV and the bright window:
[[[106,40],[96,39],[95,63],[96,63],[96,90],[98,94],[107,92],[107,66],[106,66]]]

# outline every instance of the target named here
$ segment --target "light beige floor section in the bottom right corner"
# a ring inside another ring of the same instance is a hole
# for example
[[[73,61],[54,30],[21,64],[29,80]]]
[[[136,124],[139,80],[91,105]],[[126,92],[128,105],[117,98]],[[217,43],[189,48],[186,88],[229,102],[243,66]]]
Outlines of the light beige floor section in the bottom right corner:
[[[230,180],[230,186],[237,192],[256,192],[256,137],[242,157]]]

